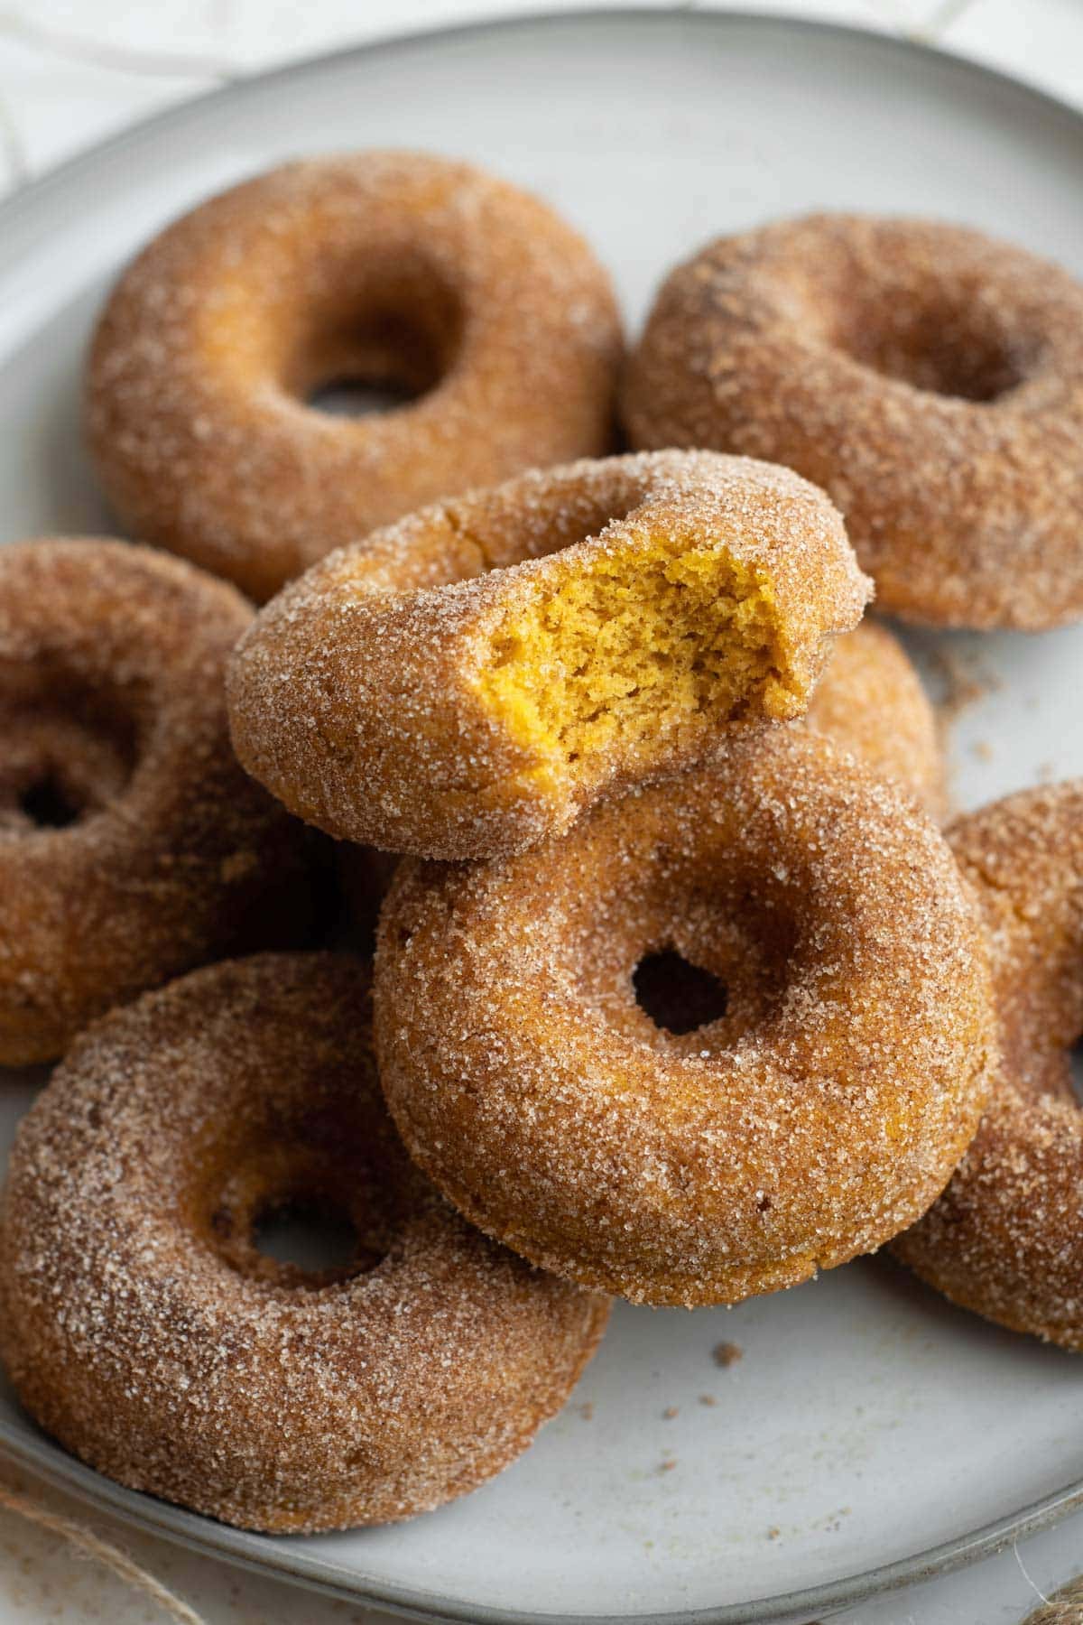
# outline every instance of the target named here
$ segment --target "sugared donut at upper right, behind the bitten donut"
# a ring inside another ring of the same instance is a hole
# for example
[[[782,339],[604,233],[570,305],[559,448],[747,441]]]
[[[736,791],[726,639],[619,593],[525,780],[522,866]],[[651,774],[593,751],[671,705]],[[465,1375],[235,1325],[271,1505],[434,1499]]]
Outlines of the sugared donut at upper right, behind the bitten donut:
[[[622,411],[636,447],[823,486],[885,611],[1083,616],[1083,284],[1023,249],[854,214],[723,237],[664,283]]]

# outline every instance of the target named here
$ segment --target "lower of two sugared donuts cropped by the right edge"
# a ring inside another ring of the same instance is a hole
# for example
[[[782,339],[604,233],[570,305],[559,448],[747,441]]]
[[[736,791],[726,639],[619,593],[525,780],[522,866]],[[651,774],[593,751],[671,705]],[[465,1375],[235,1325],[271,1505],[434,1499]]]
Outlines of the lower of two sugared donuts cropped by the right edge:
[[[1083,1350],[1083,780],[953,824],[992,944],[1000,1066],[947,1191],[895,1253],[955,1303]]]

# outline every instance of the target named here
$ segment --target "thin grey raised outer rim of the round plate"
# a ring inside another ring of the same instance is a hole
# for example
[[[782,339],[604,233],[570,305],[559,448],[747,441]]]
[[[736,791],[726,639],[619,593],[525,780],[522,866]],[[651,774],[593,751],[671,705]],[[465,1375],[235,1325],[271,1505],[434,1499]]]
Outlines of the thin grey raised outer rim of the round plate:
[[[930,65],[947,65],[971,81],[995,86],[1000,91],[1021,96],[1025,101],[1029,99],[1046,115],[1052,114],[1062,119],[1072,127],[1075,135],[1083,135],[1083,109],[1075,107],[1070,101],[1003,68],[992,67],[964,52],[927,42],[913,34],[900,34],[888,29],[880,31],[830,18],[794,16],[787,11],[749,11],[740,6],[693,10],[677,5],[586,5],[567,11],[547,11],[542,6],[516,16],[479,15],[466,21],[437,28],[380,34],[375,39],[359,44],[307,54],[274,68],[253,73],[242,72],[237,78],[229,78],[226,83],[200,91],[195,96],[185,96],[175,104],[138,119],[115,133],[81,148],[70,158],[49,166],[42,174],[24,182],[10,197],[0,198],[0,244],[5,239],[3,228],[24,214],[32,214],[42,203],[47,205],[54,190],[78,184],[84,171],[94,172],[102,161],[107,162],[122,156],[127,148],[138,146],[146,140],[153,141],[157,135],[164,135],[174,127],[193,120],[198,122],[205,109],[219,102],[244,99],[248,93],[263,94],[268,84],[287,84],[310,75],[318,78],[331,67],[362,58],[369,60],[380,55],[424,50],[432,44],[474,39],[481,34],[513,34],[539,26],[557,29],[562,26],[575,28],[583,23],[601,24],[604,28],[622,28],[628,23],[669,28],[675,24],[692,29],[706,28],[708,31],[740,26],[765,34],[802,32],[822,39],[835,37],[849,46],[874,44],[888,55],[901,54],[917,57]],[[8,240],[11,239],[8,237]],[[0,247],[0,273],[19,258],[21,252],[18,247],[6,250]],[[32,1420],[31,1427],[34,1427]],[[145,1532],[172,1540],[175,1545],[200,1555],[219,1558],[265,1578],[271,1576],[291,1581],[339,1601],[372,1604],[393,1614],[434,1622],[434,1625],[630,1625],[628,1615],[537,1614],[529,1609],[508,1610],[489,1604],[458,1602],[432,1591],[390,1584],[365,1576],[359,1576],[360,1584],[357,1584],[351,1571],[325,1558],[310,1558],[302,1550],[283,1550],[279,1545],[270,1545],[265,1550],[266,1536],[234,1529],[229,1524],[221,1524],[182,1506],[174,1506],[157,1497],[115,1484],[104,1474],[78,1461],[78,1458],[70,1456],[60,1445],[47,1438],[47,1435],[39,1435],[37,1430],[29,1435],[15,1432],[11,1424],[0,1417],[0,1456],[3,1454],[36,1479],[52,1484],[89,1506],[106,1508],[115,1513],[123,1523]],[[870,1596],[919,1584],[938,1575],[968,1566],[984,1557],[992,1557],[1012,1542],[1036,1534],[1080,1508],[1083,1508],[1083,1477],[1029,1502],[1015,1513],[951,1536],[921,1552],[895,1558],[891,1563],[880,1563],[867,1570],[843,1575],[838,1580],[820,1581],[815,1586],[779,1592],[773,1597],[765,1596],[747,1602],[723,1602],[706,1609],[636,1614],[632,1625],[768,1625],[771,1620],[796,1620],[802,1615],[835,1612],[865,1601]]]

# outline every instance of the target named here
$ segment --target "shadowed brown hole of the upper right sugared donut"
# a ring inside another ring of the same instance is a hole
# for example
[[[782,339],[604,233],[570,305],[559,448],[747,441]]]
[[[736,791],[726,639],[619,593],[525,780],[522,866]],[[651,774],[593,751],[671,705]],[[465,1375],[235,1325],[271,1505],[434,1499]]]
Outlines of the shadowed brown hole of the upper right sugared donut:
[[[885,299],[885,307],[843,314],[833,343],[870,372],[929,395],[987,405],[1023,382],[1018,349],[963,309]]]

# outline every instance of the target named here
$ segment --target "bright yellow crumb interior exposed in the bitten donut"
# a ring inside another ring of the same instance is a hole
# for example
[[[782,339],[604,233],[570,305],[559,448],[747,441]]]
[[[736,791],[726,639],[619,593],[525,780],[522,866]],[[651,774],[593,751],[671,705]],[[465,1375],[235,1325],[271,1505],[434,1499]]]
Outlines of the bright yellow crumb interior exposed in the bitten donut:
[[[688,723],[796,715],[763,570],[719,543],[658,536],[546,588],[497,630],[482,692],[511,734],[575,762]]]

